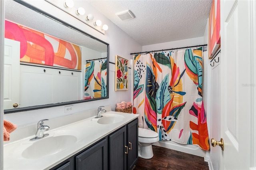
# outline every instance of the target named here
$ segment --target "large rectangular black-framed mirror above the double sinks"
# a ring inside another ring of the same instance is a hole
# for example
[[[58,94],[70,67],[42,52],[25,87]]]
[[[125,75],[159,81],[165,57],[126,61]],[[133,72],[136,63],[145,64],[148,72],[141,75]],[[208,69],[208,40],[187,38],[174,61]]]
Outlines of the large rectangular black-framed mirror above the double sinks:
[[[5,113],[108,98],[107,43],[26,2],[5,17]]]

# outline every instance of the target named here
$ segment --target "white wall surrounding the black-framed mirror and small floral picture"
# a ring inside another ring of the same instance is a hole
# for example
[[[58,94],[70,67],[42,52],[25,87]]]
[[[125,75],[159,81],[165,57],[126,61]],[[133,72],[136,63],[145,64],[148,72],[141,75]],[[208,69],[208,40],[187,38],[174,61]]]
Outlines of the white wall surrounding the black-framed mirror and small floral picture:
[[[113,24],[108,18],[102,15],[100,12],[95,10],[90,4],[86,1],[74,1],[75,7],[81,6],[85,9],[86,13],[92,13],[95,16],[95,19],[100,19],[103,24],[108,25],[108,30],[105,35],[94,30],[90,26],[87,26],[83,22],[75,19],[70,16],[66,12],[56,8],[50,3],[44,0],[25,0],[26,2],[32,4],[33,6],[44,10],[45,12],[60,18],[61,20],[72,24],[73,26],[80,28],[84,32],[106,42],[109,43],[109,57],[111,62],[115,62],[115,55],[119,55],[126,59],[132,59],[130,53],[135,51],[141,51],[142,46],[133,40],[130,36],[124,33],[120,28],[118,28],[115,24]],[[2,24],[1,24],[2,25]],[[2,50],[1,50],[2,51]],[[129,69],[129,75],[131,74],[131,70]],[[118,91],[116,92],[114,89],[114,73],[115,68],[114,64],[110,64],[110,73],[109,73],[109,99],[103,99],[98,101],[91,101],[85,103],[74,104],[74,109],[72,113],[78,113],[84,110],[90,110],[99,107],[100,105],[111,105],[112,110],[115,109],[116,103],[121,101],[131,101],[131,93],[132,93],[132,84],[129,83],[128,91]],[[1,81],[2,82],[2,81]],[[129,76],[129,82],[131,82],[131,76]],[[2,93],[1,93],[2,98]],[[12,123],[18,125],[18,127],[22,127],[25,125],[30,125],[37,123],[40,119],[54,119],[56,117],[62,117],[67,114],[64,113],[64,106],[60,107],[51,107],[46,109],[38,109],[33,111],[24,111],[18,113],[9,113],[4,115],[4,119],[11,121]]]

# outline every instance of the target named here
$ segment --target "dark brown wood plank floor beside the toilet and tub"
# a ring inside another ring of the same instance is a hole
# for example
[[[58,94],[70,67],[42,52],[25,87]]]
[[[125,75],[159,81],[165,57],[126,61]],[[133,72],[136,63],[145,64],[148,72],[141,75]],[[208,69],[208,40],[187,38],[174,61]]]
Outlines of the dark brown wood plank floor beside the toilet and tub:
[[[139,157],[133,170],[209,170],[204,158],[152,145],[151,159]]]

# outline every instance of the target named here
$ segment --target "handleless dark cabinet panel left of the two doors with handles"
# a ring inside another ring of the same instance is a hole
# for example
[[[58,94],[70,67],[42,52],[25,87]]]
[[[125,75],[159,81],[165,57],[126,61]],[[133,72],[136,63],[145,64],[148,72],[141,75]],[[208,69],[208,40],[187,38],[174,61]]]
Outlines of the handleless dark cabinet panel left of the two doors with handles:
[[[76,156],[76,170],[107,170],[106,138]]]

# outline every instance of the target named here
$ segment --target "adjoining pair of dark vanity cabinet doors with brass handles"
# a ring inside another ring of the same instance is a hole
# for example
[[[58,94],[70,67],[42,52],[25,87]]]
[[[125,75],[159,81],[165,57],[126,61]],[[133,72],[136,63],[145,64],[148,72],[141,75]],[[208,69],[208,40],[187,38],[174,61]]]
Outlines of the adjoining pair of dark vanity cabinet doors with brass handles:
[[[138,119],[109,135],[109,169],[131,170],[138,160]]]

